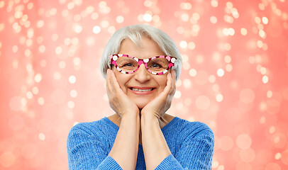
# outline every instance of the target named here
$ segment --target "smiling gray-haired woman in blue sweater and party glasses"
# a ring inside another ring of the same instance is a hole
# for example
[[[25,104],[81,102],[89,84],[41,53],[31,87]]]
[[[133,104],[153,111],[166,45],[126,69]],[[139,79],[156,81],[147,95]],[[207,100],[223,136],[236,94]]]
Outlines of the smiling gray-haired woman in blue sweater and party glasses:
[[[157,28],[121,28],[101,58],[115,113],[75,125],[67,139],[70,169],[211,169],[214,135],[204,123],[165,113],[182,57]]]

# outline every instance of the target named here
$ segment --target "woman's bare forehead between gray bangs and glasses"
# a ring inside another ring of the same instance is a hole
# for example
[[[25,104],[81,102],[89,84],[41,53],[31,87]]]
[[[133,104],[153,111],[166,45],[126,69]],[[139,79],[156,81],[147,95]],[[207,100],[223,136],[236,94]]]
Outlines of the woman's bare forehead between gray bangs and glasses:
[[[121,47],[118,53],[143,59],[158,55],[165,55],[165,53],[160,50],[160,47],[157,45],[157,43],[147,36],[142,36],[138,45],[136,45],[129,38],[126,38],[121,42]]]

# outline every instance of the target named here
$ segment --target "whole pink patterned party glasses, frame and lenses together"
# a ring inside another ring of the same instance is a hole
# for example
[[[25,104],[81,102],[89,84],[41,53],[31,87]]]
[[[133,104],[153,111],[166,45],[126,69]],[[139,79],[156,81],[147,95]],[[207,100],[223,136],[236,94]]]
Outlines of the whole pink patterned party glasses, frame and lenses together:
[[[148,59],[138,59],[129,55],[110,55],[111,64],[115,65],[116,69],[123,74],[132,74],[136,72],[141,64],[144,64],[148,72],[155,75],[161,75],[168,72],[174,66],[175,57],[161,55]]]

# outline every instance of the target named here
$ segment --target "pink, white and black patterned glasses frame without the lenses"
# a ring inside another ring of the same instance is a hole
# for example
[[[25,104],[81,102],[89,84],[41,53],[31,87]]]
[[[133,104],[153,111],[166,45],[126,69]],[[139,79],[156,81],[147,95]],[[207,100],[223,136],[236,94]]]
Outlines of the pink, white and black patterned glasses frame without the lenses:
[[[134,72],[136,72],[140,65],[141,64],[144,64],[145,65],[145,68],[148,70],[148,72],[150,72],[151,74],[154,74],[154,75],[162,75],[162,74],[165,74],[168,72],[168,70],[174,66],[174,63],[175,61],[177,60],[176,57],[172,57],[172,56],[168,56],[168,55],[159,55],[159,56],[155,56],[155,57],[151,57],[151,58],[148,58],[148,59],[138,59],[137,57],[133,57],[133,56],[130,56],[130,55],[123,55],[123,54],[117,54],[117,55],[110,55],[109,56],[111,58],[111,64],[115,65],[116,69],[123,73],[123,74],[133,74]],[[136,62],[138,62],[138,67],[133,71],[133,72],[126,72],[126,71],[123,71],[122,69],[120,69],[118,66],[117,66],[117,60],[119,57],[130,57],[131,59],[135,60]],[[163,72],[158,72],[158,73],[155,73],[155,72],[152,72],[150,69],[148,69],[148,66],[147,66],[147,63],[150,62],[150,60],[154,60],[156,58],[165,58],[166,60],[168,60],[169,62],[169,65],[167,67],[167,69],[165,69]]]

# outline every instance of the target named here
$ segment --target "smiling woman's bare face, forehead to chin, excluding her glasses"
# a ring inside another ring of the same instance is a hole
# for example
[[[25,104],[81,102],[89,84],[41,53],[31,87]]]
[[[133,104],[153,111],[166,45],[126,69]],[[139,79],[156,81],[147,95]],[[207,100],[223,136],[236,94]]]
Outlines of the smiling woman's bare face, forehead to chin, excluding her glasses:
[[[130,39],[123,40],[118,53],[131,55],[139,59],[165,55],[156,42],[145,36],[142,37],[140,47],[135,45]],[[160,94],[166,86],[167,73],[162,75],[150,74],[144,64],[141,64],[139,69],[133,74],[123,74],[118,72],[115,67],[113,67],[113,72],[116,75],[121,89],[138,108],[144,108],[144,106]],[[142,91],[139,91],[139,89],[142,89]],[[143,91],[143,89],[146,89],[146,91]],[[152,91],[150,91],[151,89]]]

